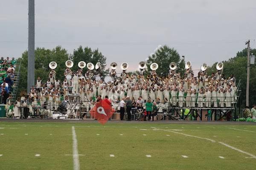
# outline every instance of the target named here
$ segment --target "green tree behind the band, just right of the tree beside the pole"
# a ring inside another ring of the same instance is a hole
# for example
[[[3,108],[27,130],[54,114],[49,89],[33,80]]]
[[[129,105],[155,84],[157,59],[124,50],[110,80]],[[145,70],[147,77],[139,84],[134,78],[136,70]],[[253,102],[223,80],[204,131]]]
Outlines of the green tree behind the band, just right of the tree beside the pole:
[[[102,70],[105,70],[106,67],[106,57],[102,55],[102,52],[99,51],[99,49],[92,50],[89,47],[83,48],[82,46],[79,46],[79,48],[74,49],[73,54],[70,56],[70,59],[73,60],[74,66],[72,70],[78,70],[78,63],[80,61],[91,62],[96,65],[97,62],[101,62]],[[85,73],[87,71],[87,68],[83,69],[83,72]]]

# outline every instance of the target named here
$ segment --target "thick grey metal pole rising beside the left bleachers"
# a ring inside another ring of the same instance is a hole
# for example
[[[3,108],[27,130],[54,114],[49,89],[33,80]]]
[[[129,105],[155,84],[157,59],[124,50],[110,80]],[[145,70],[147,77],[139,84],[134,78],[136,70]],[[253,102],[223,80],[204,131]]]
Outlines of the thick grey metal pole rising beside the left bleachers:
[[[27,92],[35,85],[35,0],[29,0]]]

